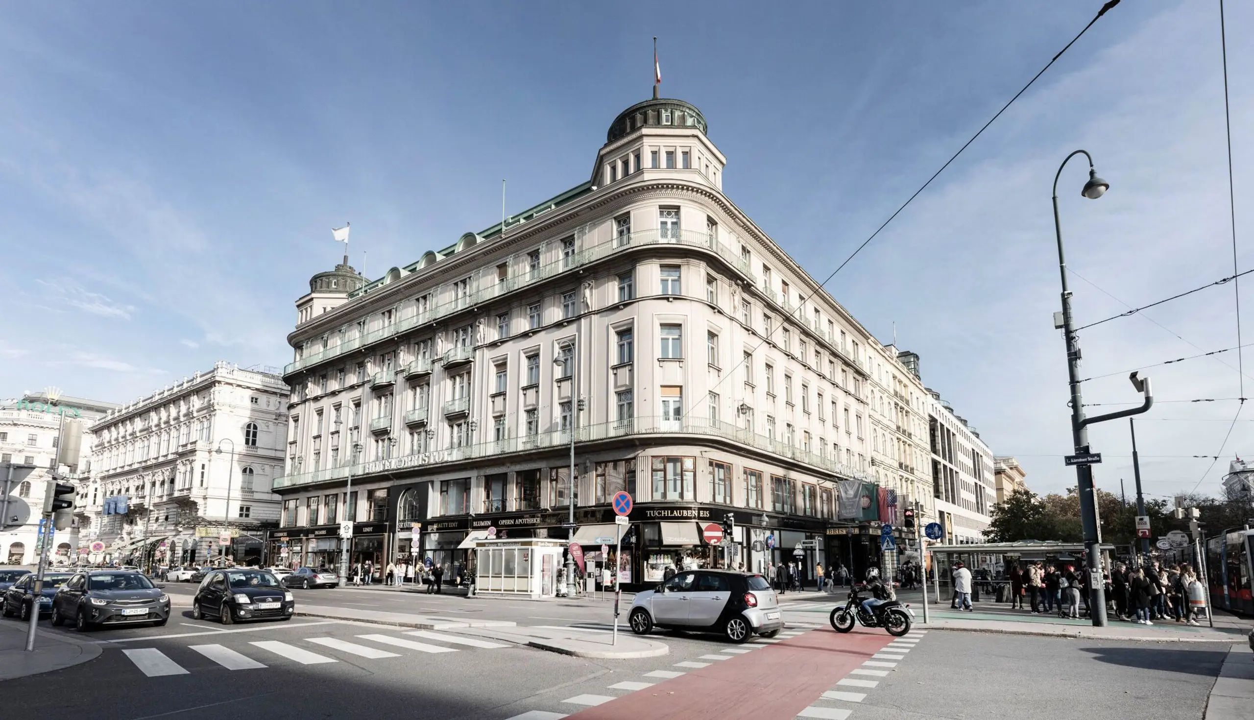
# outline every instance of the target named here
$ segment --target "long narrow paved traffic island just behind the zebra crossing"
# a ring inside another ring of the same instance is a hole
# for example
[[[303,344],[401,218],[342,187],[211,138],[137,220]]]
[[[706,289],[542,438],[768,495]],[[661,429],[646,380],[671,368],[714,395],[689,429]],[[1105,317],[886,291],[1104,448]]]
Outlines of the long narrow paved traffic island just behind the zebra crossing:
[[[670,652],[670,647],[663,642],[633,636],[626,623],[618,631],[618,642],[611,645],[611,633],[603,630],[584,627],[518,627],[518,623],[507,620],[468,620],[438,615],[349,610],[316,605],[298,606],[296,615],[389,625],[394,627],[413,627],[415,630],[443,630],[445,632],[527,645],[577,657],[624,660],[653,657]]]

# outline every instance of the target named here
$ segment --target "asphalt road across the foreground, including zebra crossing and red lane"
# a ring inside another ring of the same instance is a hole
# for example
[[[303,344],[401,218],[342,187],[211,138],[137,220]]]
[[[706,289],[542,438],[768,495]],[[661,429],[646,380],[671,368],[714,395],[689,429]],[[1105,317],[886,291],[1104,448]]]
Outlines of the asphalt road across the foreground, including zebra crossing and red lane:
[[[1228,650],[942,631],[900,641],[865,628],[838,635],[824,625],[831,603],[803,603],[786,618],[808,625],[776,642],[735,646],[714,636],[662,633],[657,638],[670,645],[670,655],[587,660],[360,622],[293,618],[223,627],[191,620],[193,590],[167,586],[182,607],[166,627],[93,632],[87,637],[104,645],[100,657],[5,682],[4,695],[21,699],[28,716],[68,710],[83,720],[764,720],[810,711],[853,720],[1200,719]],[[576,625],[588,632],[608,620],[611,605],[295,592],[298,603]]]

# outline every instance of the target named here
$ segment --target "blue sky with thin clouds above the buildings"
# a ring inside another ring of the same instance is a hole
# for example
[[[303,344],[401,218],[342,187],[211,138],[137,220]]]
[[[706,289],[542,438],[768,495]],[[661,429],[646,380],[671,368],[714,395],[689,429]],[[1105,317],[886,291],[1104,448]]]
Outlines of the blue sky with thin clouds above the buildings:
[[[352,221],[352,262],[367,251],[377,277],[495,222],[502,178],[510,211],[587,179],[651,92],[655,34],[663,95],[700,107],[729,158],[725,192],[825,277],[1100,8],[4,5],[0,396],[118,401],[218,359],[288,361],[292,301],[341,250],[331,226]],[[1254,8],[1228,14],[1244,270]],[[1220,69],[1218,3],[1124,3],[828,286],[883,341],[895,322],[924,383],[1037,489],[1075,480],[1057,164],[1087,148],[1112,186],[1080,198],[1072,161],[1060,187],[1081,322],[1230,275]],[[1086,400],[1135,401],[1126,371],[1236,345],[1231,285],[1082,345],[1083,376],[1120,373]],[[1236,398],[1235,368],[1147,371],[1164,400],[1137,428],[1147,492],[1214,492],[1233,452],[1254,455],[1250,408],[1205,474],[1190,455],[1219,452],[1238,403],[1165,403]],[[1126,423],[1091,440],[1099,484],[1131,484]]]

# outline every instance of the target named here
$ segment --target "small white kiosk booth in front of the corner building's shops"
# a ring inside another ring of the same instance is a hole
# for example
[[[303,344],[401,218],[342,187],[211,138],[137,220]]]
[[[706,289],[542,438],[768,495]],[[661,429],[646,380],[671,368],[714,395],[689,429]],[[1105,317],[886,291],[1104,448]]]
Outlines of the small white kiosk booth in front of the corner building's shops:
[[[477,539],[475,595],[553,597],[564,548],[549,538]]]

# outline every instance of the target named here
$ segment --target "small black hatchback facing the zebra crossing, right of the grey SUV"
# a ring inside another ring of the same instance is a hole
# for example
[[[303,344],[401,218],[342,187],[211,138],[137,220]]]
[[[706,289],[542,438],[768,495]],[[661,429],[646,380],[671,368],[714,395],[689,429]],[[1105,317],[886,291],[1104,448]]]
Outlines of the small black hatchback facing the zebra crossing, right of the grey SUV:
[[[192,617],[214,616],[222,625],[242,620],[291,620],[296,597],[272,573],[256,568],[211,572],[192,598]]]

